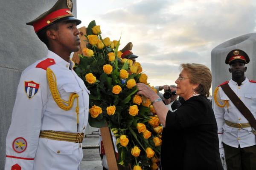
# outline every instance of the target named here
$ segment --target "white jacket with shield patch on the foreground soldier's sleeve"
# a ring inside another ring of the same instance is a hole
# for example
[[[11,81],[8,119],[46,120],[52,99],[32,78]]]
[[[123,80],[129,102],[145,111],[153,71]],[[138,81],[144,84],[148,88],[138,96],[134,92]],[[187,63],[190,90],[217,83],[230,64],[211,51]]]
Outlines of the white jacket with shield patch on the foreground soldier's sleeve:
[[[49,62],[55,62],[49,66]],[[68,101],[71,93],[79,95],[79,133],[88,121],[89,95],[84,82],[73,69],[73,62],[64,61],[49,51],[44,58],[27,67],[20,78],[6,138],[5,170],[78,170],[83,157],[81,144],[39,138],[41,130],[77,133],[76,100],[65,111],[52,98],[46,69],[54,72],[57,89]]]

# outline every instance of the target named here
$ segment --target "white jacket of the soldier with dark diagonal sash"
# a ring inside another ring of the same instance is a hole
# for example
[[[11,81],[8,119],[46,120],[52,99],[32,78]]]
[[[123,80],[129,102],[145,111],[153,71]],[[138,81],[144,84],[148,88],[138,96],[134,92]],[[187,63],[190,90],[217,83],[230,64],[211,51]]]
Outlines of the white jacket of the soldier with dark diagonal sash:
[[[242,82],[241,86],[232,79],[228,82],[230,88],[236,93],[245,106],[252,112],[256,118],[256,83],[249,81],[247,78]],[[230,101],[227,95],[223,92],[221,87],[218,90],[218,97],[225,101],[228,100],[227,106],[218,107],[215,103],[213,105],[215,118],[218,125],[218,136],[220,141],[220,148],[223,147],[222,142],[231,147],[250,147],[256,144],[256,136],[251,132],[252,127],[240,129],[230,127],[225,124],[225,120],[233,123],[248,123],[248,120],[241,114],[236,106]],[[219,101],[220,104],[223,104]]]

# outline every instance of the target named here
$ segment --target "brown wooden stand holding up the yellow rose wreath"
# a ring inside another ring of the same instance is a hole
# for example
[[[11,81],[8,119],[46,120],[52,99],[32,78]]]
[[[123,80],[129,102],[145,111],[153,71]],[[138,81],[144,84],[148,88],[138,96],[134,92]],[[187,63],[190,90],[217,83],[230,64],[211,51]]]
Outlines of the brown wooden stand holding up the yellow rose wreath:
[[[83,34],[86,34],[86,27],[81,27],[79,28],[80,32],[83,32]],[[80,43],[80,49],[78,52],[75,52],[72,58],[72,61],[75,63],[79,64],[79,54],[82,55],[83,51],[82,49],[86,47],[87,38],[84,35],[79,34],[79,38],[81,40]],[[115,147],[113,144],[113,139],[111,135],[111,129],[108,127],[108,124],[106,124],[106,127],[100,128],[100,132],[102,135],[102,141],[104,145],[104,150],[106,153],[107,161],[108,161],[108,169],[109,170],[120,170],[118,163],[117,163],[117,158],[116,158],[116,153],[115,153]]]

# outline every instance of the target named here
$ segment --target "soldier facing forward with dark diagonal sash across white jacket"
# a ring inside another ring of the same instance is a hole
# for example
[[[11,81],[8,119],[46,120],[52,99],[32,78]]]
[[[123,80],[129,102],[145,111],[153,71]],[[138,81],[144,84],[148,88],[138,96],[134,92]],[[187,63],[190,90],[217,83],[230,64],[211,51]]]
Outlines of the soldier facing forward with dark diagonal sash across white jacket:
[[[255,129],[221,87],[228,84],[256,118],[256,81],[244,76],[247,69],[245,64],[249,61],[244,51],[232,50],[226,58],[232,78],[220,84],[214,92],[213,107],[218,124],[220,154],[226,158],[227,170],[256,170]]]

